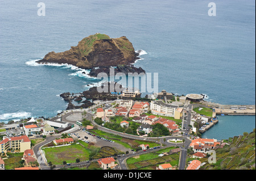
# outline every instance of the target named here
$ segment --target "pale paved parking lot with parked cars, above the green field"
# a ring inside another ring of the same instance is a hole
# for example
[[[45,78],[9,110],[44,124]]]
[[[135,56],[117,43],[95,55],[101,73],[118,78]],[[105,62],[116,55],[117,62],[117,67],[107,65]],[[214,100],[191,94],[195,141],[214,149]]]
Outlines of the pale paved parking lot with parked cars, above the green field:
[[[77,132],[77,133],[73,133],[71,134],[71,136],[74,139],[78,139],[78,140],[82,140],[84,142],[89,143],[93,143],[94,146],[97,147],[102,147],[102,146],[111,146],[114,147],[120,151],[131,151],[128,148],[125,148],[125,146],[118,144],[117,142],[114,142],[112,140],[107,140],[101,136],[96,136],[95,134],[92,134],[88,131],[83,131],[82,129]]]

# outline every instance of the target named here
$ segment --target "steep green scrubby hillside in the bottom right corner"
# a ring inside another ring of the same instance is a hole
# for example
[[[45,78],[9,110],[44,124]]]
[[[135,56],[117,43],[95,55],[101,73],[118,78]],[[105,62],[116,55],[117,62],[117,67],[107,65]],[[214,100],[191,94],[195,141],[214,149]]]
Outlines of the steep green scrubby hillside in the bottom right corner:
[[[216,149],[216,163],[209,164],[207,158],[199,159],[207,162],[200,169],[214,170],[255,170],[255,129],[250,134],[235,136],[225,140],[229,145]]]

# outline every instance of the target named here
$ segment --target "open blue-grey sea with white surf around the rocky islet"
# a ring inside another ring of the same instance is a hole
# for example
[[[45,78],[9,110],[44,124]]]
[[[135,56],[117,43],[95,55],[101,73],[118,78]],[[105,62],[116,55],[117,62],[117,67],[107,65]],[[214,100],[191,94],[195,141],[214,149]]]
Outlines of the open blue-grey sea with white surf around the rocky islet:
[[[0,1],[0,121],[55,116],[67,108],[61,93],[98,83],[74,66],[35,64],[96,32],[143,49],[135,66],[158,73],[159,91],[255,104],[255,1],[214,1],[216,16],[204,0],[43,3],[46,16],[36,1]]]

